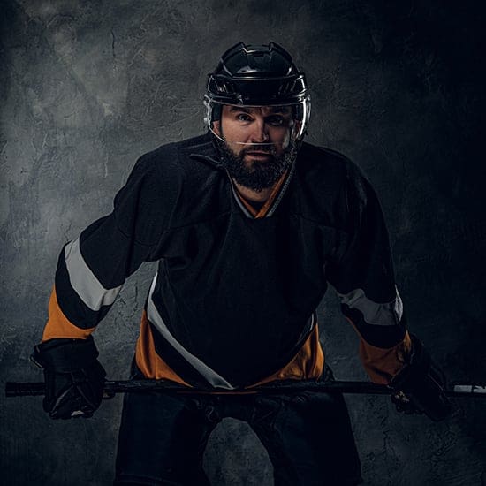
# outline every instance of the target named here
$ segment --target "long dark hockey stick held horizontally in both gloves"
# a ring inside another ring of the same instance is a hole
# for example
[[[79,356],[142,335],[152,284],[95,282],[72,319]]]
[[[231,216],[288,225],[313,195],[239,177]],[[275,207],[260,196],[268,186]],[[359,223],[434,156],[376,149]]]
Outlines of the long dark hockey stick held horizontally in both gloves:
[[[288,383],[288,382],[287,382]],[[188,388],[185,386],[168,385],[161,380],[126,380],[126,381],[106,381],[104,392],[107,396],[115,393],[157,391],[175,394],[221,394],[221,395],[242,395],[242,394],[285,394],[299,393],[301,391],[312,392],[340,392],[340,393],[361,393],[373,395],[391,395],[394,391],[385,384],[370,382],[305,382],[292,384],[263,385],[255,388],[242,388],[227,390],[215,388],[211,390]],[[5,396],[7,397],[27,397],[44,395],[45,383],[5,383]],[[464,397],[469,399],[486,399],[486,386],[476,384],[455,384],[452,390],[445,391],[447,397]]]

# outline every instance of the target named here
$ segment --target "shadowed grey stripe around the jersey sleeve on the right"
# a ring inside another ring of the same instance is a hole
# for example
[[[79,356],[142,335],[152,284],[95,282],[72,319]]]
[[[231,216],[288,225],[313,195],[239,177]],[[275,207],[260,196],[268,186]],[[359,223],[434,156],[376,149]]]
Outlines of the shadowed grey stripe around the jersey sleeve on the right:
[[[378,304],[369,300],[362,289],[355,289],[349,293],[339,293],[342,304],[348,308],[354,308],[361,311],[364,320],[368,324],[376,326],[394,326],[397,325],[403,315],[403,304],[396,289],[396,297],[391,302]]]

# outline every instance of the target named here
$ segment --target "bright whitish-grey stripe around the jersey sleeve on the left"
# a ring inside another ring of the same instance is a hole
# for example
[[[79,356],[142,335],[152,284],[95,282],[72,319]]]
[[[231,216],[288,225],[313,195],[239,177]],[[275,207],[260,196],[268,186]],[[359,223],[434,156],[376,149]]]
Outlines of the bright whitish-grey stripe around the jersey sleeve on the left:
[[[81,254],[80,239],[65,246],[65,264],[72,288],[88,308],[98,311],[102,306],[110,306],[115,301],[122,286],[105,289],[100,284]]]

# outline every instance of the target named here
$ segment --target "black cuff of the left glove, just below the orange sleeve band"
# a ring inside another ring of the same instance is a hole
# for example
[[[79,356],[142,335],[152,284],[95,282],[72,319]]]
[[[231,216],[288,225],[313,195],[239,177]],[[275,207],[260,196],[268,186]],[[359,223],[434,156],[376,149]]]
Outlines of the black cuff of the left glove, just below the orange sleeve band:
[[[92,336],[86,339],[55,338],[34,346],[31,359],[41,368],[72,373],[93,363],[98,354]]]

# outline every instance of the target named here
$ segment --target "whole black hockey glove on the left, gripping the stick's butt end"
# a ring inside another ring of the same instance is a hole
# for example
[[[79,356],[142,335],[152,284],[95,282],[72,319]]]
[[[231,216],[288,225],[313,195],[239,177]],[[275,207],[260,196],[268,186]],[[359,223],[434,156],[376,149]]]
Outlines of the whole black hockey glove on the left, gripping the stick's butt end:
[[[91,417],[100,406],[106,373],[97,357],[91,336],[49,339],[34,347],[31,358],[44,370],[42,406],[50,418]]]

